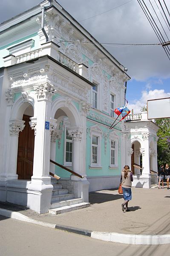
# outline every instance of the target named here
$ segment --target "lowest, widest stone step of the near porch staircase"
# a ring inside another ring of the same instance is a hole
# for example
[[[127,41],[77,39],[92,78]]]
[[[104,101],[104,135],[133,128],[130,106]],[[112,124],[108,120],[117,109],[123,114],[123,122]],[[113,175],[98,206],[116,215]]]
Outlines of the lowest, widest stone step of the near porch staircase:
[[[84,203],[84,202],[79,203],[79,204],[71,204],[71,205],[67,205],[67,206],[63,206],[63,207],[49,209],[49,213],[52,215],[57,215],[60,213],[71,212],[71,211],[82,209],[82,208],[89,207],[89,206],[90,206],[90,203]]]

